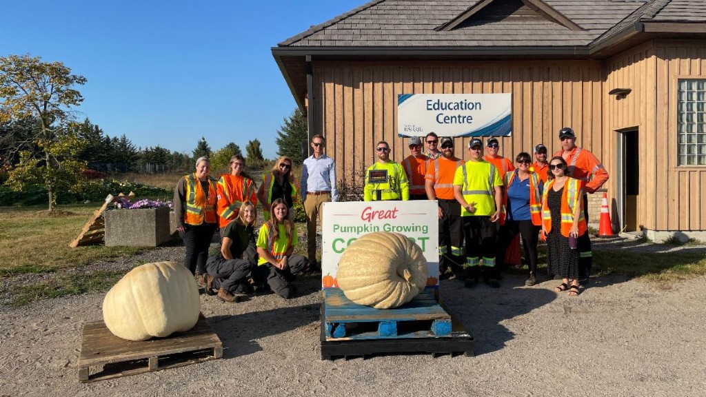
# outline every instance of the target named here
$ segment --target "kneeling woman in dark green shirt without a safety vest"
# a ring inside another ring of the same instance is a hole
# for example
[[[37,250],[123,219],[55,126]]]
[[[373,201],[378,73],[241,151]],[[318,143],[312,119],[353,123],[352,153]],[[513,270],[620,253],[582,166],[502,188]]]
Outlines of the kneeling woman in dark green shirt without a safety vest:
[[[245,201],[237,218],[223,231],[220,254],[210,256],[206,263],[206,294],[224,302],[240,302],[252,291],[248,277],[257,263],[253,225],[257,218],[255,204]]]

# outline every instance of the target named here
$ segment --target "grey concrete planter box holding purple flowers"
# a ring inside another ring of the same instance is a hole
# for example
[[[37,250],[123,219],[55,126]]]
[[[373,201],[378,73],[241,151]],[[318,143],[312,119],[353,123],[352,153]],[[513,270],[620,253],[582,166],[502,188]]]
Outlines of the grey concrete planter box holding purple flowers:
[[[105,211],[106,247],[157,247],[172,238],[169,208]]]

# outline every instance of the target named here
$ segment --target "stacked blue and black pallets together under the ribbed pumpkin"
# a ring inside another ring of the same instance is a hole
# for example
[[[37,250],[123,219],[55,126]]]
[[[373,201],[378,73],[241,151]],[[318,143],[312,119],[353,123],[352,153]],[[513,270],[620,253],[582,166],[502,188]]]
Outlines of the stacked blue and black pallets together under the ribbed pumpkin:
[[[321,357],[428,352],[473,355],[475,341],[426,290],[397,309],[373,309],[348,300],[338,288],[323,291]]]

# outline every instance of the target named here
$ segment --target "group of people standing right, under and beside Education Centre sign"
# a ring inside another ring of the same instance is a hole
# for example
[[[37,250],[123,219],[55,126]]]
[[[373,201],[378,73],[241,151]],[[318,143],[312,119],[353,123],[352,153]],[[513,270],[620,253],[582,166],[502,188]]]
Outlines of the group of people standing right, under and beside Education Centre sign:
[[[498,155],[500,143],[472,138],[469,161],[455,157],[454,140],[431,132],[409,138],[409,156],[390,159],[390,146],[380,141],[378,159],[366,171],[364,199],[436,200],[438,202],[439,271],[473,287],[479,280],[500,286],[505,251],[522,237],[530,274],[537,283],[537,244],[549,247],[549,274],[562,279],[556,291],[580,293],[580,280],[592,268],[587,233],[588,199],[608,180],[608,172],[590,151],[575,145],[573,129],[559,131],[561,150],[547,161],[547,148],[534,147],[515,156],[515,164]],[[424,152],[424,153],[423,153]],[[515,166],[516,165],[516,166]]]

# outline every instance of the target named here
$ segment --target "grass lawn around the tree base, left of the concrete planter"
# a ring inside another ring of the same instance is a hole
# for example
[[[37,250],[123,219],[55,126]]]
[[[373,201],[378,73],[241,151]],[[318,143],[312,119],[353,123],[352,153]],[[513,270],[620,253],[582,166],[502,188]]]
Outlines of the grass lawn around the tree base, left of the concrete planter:
[[[0,208],[0,277],[47,273],[145,251],[103,244],[68,247],[98,208],[95,203],[59,206],[52,216],[47,215],[44,206]]]

